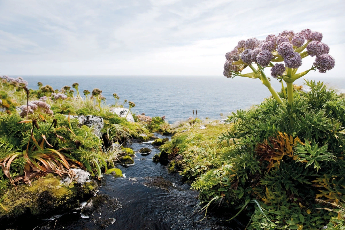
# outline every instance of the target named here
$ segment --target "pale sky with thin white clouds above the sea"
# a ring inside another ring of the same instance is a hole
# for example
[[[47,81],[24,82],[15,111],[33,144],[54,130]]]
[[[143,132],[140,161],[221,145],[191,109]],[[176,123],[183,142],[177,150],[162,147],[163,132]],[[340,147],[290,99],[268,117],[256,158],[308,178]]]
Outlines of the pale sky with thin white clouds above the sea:
[[[221,76],[239,40],[310,28],[336,60],[311,74],[342,77],[344,10],[334,0],[0,0],[0,75]]]

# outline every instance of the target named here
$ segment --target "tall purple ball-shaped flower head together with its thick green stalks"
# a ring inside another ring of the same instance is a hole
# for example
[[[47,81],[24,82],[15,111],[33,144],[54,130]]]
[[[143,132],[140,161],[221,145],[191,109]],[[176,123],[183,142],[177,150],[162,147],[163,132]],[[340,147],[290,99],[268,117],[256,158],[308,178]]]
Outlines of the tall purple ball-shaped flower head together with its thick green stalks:
[[[225,54],[226,62],[223,74],[227,78],[235,76],[258,78],[281,104],[282,99],[264,73],[264,68],[272,67],[271,76],[280,80],[283,89],[283,81],[286,82],[288,103],[292,104],[295,80],[311,70],[325,73],[334,67],[335,60],[328,54],[329,46],[321,42],[322,38],[322,33],[304,29],[298,33],[285,30],[278,35],[269,34],[262,41],[256,38],[241,40],[233,50]],[[305,49],[306,51],[304,51]],[[302,59],[307,56],[316,56],[313,66],[306,71],[297,73],[298,68],[302,66]],[[284,64],[273,64],[272,62],[284,62]],[[254,67],[254,64],[257,67]],[[253,72],[242,74],[242,70],[248,66]],[[283,92],[285,94],[285,90]]]

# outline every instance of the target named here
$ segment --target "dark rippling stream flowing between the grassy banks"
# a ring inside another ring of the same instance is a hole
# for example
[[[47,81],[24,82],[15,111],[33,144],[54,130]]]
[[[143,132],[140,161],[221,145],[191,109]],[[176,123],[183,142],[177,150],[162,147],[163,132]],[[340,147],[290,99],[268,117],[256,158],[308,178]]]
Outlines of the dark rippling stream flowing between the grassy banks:
[[[155,133],[158,138],[166,138]],[[171,139],[171,137],[168,137]],[[124,167],[118,166],[126,177],[115,178],[111,174],[104,174],[98,195],[108,195],[116,199],[120,208],[102,210],[92,218],[83,216],[80,210],[72,210],[54,220],[46,220],[33,227],[36,230],[217,230],[244,229],[238,220],[229,219],[235,213],[208,210],[198,212],[198,192],[190,190],[190,185],[181,181],[178,173],[169,174],[166,167],[152,161],[152,157],[159,153],[157,147],[150,142],[131,143],[129,148],[136,152],[135,164]],[[138,151],[143,148],[152,150],[147,156]],[[157,182],[158,181],[158,182]],[[197,207],[196,207],[197,206]],[[28,226],[27,226],[28,227]],[[13,228],[13,227],[12,227]],[[22,229],[18,226],[16,229]],[[31,229],[31,228],[25,228]]]

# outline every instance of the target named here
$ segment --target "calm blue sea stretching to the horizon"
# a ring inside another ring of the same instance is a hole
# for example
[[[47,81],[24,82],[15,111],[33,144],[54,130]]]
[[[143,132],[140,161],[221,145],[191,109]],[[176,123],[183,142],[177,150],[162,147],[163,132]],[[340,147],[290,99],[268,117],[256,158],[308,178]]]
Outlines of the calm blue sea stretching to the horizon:
[[[14,77],[14,76],[11,76]],[[146,116],[165,116],[169,122],[187,119],[193,116],[192,110],[198,111],[198,117],[220,119],[220,113],[227,116],[237,109],[247,109],[270,96],[268,89],[258,80],[235,77],[227,79],[221,76],[22,76],[29,82],[29,88],[37,89],[37,82],[49,84],[54,89],[78,82],[79,91],[103,91],[108,104],[115,103],[112,97],[117,93],[119,102],[132,101],[137,114]],[[324,80],[330,86],[345,89],[342,78],[309,78]],[[281,84],[272,79],[272,86],[279,91]],[[302,84],[303,79],[298,79]],[[128,103],[125,105],[128,107]]]

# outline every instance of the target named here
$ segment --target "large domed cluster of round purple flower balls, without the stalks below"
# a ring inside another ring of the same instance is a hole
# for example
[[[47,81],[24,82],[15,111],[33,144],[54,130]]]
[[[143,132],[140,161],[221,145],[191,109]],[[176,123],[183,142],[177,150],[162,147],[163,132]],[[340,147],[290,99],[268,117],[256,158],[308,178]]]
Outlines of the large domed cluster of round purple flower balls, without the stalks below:
[[[334,67],[334,58],[328,54],[329,46],[321,42],[322,38],[322,33],[304,29],[298,33],[285,30],[278,35],[269,34],[263,41],[257,38],[241,40],[233,50],[225,54],[223,74],[230,78],[239,75],[236,73],[252,63],[261,67],[273,67],[272,62],[279,61],[284,61],[284,67],[296,69],[302,65],[302,58],[307,56],[316,56],[314,66],[324,73]],[[306,51],[302,52],[304,49]],[[282,70],[281,65],[279,68]],[[272,71],[272,76],[277,77],[278,72],[274,69]]]

